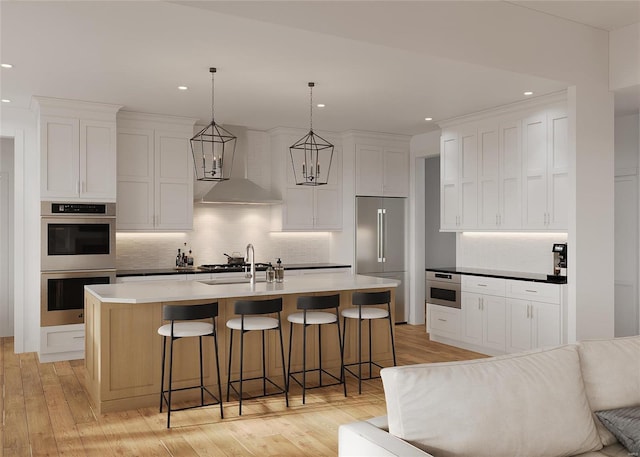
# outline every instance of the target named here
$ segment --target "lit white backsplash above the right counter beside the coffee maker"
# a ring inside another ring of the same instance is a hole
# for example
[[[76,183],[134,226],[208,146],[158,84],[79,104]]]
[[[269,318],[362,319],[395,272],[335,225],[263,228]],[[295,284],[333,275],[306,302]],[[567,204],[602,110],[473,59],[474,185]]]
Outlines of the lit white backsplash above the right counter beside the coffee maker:
[[[566,233],[465,232],[458,237],[456,264],[549,274],[553,272],[553,243],[566,242]]]

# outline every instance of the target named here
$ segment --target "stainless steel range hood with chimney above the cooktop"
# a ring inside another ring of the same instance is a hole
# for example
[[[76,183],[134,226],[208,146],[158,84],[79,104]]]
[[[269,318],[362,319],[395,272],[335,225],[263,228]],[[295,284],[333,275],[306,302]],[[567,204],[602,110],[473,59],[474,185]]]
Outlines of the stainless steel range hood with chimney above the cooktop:
[[[199,126],[196,126],[198,129]],[[205,181],[195,181],[194,201],[196,203],[217,203],[235,205],[276,205],[282,200],[273,192],[259,186],[247,177],[247,150],[251,138],[247,129],[239,126],[227,126],[237,137],[236,151],[233,158],[233,171],[228,181],[213,184]]]

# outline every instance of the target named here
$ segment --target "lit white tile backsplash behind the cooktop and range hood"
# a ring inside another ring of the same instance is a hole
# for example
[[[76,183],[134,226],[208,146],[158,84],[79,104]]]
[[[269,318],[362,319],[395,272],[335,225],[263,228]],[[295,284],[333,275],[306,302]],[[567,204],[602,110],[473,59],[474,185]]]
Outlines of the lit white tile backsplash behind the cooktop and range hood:
[[[258,205],[195,205],[192,232],[119,232],[119,270],[170,268],[178,248],[193,251],[195,265],[226,263],[223,253],[243,256],[253,244],[257,262],[329,262],[328,232],[271,232],[271,208]]]

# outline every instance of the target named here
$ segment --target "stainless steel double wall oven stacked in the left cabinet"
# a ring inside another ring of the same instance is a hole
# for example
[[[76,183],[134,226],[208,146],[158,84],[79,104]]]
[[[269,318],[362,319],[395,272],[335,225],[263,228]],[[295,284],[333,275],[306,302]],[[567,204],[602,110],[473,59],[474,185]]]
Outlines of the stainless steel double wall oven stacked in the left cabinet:
[[[84,322],[84,286],[115,282],[115,203],[41,203],[42,326]]]

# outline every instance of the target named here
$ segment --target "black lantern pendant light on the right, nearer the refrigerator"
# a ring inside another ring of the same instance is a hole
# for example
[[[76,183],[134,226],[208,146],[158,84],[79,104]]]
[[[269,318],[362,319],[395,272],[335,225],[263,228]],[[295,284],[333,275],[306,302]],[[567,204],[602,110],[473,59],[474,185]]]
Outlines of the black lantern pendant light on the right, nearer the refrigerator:
[[[289,147],[297,185],[327,184],[333,160],[333,145],[313,133],[313,86],[309,83],[309,133]]]

